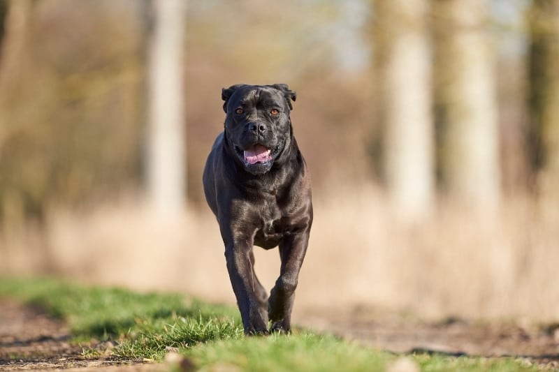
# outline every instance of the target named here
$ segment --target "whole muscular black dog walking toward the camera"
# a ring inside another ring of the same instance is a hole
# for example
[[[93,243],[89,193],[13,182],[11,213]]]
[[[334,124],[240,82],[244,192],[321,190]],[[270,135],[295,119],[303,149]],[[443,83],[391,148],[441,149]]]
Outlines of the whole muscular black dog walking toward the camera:
[[[222,90],[225,129],[205,163],[205,198],[217,216],[245,334],[289,332],[312,224],[310,174],[289,112],[286,84]],[[253,245],[279,245],[282,265],[270,299],[254,274]]]

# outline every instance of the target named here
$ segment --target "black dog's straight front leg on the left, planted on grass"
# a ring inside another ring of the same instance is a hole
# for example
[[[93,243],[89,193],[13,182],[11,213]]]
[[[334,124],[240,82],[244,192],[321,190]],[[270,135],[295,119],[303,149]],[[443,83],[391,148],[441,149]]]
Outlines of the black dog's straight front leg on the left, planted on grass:
[[[237,297],[242,326],[245,334],[267,334],[268,325],[262,318],[261,305],[256,297],[254,283],[256,277],[250,261],[252,244],[247,241],[238,241],[236,244],[226,244],[225,258],[227,270],[233,292]]]

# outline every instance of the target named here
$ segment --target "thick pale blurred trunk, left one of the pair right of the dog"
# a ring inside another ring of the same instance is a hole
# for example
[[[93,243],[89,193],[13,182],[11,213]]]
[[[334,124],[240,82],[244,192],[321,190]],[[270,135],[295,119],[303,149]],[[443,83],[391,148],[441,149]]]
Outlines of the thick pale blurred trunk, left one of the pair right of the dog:
[[[428,0],[373,4],[384,175],[402,217],[421,218],[434,188]]]

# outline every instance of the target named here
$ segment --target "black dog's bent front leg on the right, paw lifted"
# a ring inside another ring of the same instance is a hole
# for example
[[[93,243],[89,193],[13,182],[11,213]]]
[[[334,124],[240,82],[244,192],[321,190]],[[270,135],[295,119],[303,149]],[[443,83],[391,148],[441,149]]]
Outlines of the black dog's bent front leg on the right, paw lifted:
[[[308,242],[309,232],[307,230],[297,235],[291,235],[279,244],[282,267],[268,300],[268,316],[272,321],[270,329],[272,331],[291,331],[291,309]]]

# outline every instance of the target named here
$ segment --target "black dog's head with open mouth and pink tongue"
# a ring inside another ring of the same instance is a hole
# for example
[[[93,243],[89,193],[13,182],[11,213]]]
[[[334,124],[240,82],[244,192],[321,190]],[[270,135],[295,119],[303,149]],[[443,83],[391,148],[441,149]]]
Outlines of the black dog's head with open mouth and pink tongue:
[[[268,172],[289,144],[289,112],[296,93],[286,84],[239,84],[223,89],[222,98],[231,156],[249,173]]]

